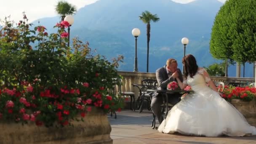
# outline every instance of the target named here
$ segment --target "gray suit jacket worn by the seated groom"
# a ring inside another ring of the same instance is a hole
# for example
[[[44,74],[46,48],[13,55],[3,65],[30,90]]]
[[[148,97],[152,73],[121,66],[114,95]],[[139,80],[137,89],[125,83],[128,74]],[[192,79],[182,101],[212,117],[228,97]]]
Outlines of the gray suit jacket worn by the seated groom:
[[[181,80],[181,82],[183,82],[183,77],[182,77],[181,70],[179,68],[177,70],[179,72],[179,79]],[[158,83],[157,90],[167,90],[168,83],[170,83],[172,81],[176,81],[175,78],[168,77],[168,74],[167,74],[167,71],[166,71],[166,65],[164,67],[161,67],[161,68],[157,69],[155,74],[156,74],[157,83]],[[155,92],[153,97],[156,97],[158,95],[159,95],[159,93]]]

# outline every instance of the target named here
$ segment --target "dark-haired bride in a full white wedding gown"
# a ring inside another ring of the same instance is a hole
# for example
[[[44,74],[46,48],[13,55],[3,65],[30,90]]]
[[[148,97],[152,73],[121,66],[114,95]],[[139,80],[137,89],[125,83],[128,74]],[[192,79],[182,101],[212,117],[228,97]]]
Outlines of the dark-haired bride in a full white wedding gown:
[[[175,78],[181,89],[190,85],[194,93],[185,96],[168,112],[158,131],[195,136],[256,135],[256,128],[249,125],[235,107],[221,98],[206,70],[197,66],[194,56],[185,56],[182,63],[187,79],[182,83],[179,77]]]

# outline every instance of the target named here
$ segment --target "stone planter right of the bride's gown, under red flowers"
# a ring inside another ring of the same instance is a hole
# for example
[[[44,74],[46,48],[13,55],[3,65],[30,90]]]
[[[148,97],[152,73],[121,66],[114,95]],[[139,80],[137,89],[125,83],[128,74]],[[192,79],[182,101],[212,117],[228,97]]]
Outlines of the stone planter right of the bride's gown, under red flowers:
[[[256,126],[256,101],[241,101],[240,99],[232,99],[230,102],[237,110],[239,110],[250,125]]]

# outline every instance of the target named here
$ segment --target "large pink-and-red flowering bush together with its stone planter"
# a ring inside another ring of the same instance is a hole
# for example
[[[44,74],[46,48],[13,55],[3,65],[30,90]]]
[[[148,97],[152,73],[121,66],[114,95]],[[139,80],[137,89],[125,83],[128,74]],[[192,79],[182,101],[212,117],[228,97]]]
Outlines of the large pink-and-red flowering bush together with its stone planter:
[[[106,114],[123,107],[109,92],[123,57],[93,56],[78,38],[67,47],[67,21],[51,34],[26,15],[13,25],[0,30],[0,143],[112,143]]]

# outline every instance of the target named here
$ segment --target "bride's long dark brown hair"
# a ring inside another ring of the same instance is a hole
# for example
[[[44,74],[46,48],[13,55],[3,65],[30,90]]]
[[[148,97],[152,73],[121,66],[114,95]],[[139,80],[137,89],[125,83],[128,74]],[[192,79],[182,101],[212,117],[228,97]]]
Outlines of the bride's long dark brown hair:
[[[192,54],[188,54],[187,56],[184,56],[182,58],[182,64],[184,64],[184,71],[185,76],[188,75],[190,77],[193,77],[197,73],[197,61],[195,60],[195,57]]]

